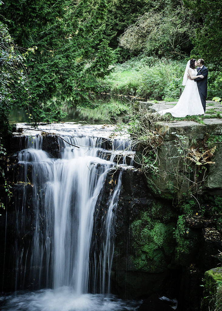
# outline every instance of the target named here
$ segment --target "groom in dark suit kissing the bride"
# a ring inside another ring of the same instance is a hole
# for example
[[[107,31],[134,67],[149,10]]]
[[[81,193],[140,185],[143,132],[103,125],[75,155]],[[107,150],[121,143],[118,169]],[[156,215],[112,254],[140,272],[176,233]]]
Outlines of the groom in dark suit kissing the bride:
[[[204,60],[202,58],[198,59],[197,62],[195,62],[195,66],[197,67],[197,76],[203,75],[204,78],[196,78],[194,79],[195,82],[197,82],[198,91],[201,97],[201,103],[204,109],[204,113],[206,111],[206,96],[207,96],[207,76],[208,76],[208,70],[207,67],[204,66]]]

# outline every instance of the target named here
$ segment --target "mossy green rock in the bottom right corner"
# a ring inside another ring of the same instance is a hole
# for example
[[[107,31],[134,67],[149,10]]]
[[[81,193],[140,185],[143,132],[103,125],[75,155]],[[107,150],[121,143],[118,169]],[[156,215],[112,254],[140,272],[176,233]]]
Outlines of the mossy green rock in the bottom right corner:
[[[204,298],[201,303],[201,311],[222,310],[222,268],[213,268],[204,274]]]

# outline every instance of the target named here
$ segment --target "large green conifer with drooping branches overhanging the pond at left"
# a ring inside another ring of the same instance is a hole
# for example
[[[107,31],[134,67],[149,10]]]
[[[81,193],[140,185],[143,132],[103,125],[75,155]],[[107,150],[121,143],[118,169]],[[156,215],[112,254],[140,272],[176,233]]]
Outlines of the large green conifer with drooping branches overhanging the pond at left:
[[[25,105],[33,122],[56,121],[65,100],[89,103],[89,91],[102,90],[97,77],[113,61],[108,42],[102,39],[107,4],[100,0],[88,18],[78,5],[56,1],[8,1],[2,20],[21,45],[27,73],[26,92],[15,92],[16,104]],[[2,12],[3,13],[3,12]],[[13,21],[9,20],[10,16]],[[49,17],[48,17],[49,16]]]

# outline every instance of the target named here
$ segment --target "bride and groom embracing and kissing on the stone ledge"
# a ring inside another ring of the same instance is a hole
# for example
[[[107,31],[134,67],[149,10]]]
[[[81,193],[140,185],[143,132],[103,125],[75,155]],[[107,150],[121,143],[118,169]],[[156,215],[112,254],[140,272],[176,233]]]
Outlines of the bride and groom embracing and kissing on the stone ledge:
[[[170,113],[173,117],[204,114],[206,111],[207,76],[208,70],[204,66],[204,60],[200,58],[196,61],[191,58],[187,62],[183,75],[185,88],[178,103],[173,108],[161,110],[158,113],[161,115]]]

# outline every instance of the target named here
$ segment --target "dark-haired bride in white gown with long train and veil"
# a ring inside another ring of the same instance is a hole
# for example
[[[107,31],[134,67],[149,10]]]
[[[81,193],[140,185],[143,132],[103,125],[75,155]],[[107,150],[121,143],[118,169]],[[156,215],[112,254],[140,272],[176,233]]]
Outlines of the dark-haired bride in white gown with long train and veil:
[[[193,80],[196,78],[203,78],[203,75],[197,76],[196,59],[191,59],[187,62],[187,67],[183,75],[183,85],[185,88],[183,93],[178,100],[178,103],[169,109],[160,110],[158,113],[163,115],[166,113],[172,114],[173,117],[186,117],[197,114],[204,114],[204,109],[201,104],[201,98],[197,88],[197,83]],[[191,80],[187,79],[187,75],[190,76]]]

